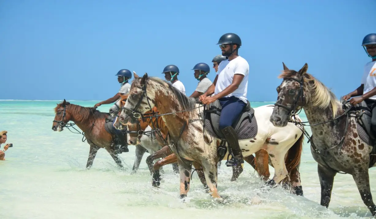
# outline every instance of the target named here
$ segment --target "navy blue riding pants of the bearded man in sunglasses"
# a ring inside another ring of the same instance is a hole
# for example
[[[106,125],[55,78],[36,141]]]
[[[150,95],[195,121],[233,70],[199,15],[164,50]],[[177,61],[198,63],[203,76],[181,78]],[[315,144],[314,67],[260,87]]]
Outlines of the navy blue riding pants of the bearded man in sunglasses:
[[[222,130],[227,126],[232,126],[241,111],[246,107],[246,103],[235,96],[220,98],[218,100],[222,106],[219,118],[219,128]]]

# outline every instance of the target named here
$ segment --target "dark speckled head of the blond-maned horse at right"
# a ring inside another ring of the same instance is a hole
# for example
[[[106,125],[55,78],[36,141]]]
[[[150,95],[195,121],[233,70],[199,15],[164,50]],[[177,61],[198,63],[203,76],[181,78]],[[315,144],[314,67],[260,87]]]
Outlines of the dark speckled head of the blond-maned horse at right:
[[[270,116],[271,123],[277,127],[287,126],[290,117],[302,109],[310,98],[308,88],[303,86],[308,69],[307,63],[298,72],[288,69],[285,63],[283,67],[284,71],[279,76],[283,81],[277,87],[277,102]]]

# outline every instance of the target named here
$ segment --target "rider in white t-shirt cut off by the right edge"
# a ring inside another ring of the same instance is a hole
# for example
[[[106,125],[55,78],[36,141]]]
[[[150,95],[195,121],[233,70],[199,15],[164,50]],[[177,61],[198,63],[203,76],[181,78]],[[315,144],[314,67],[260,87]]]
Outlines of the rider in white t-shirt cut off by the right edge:
[[[350,100],[355,105],[362,101],[368,105],[372,111],[371,126],[376,131],[376,33],[370,33],[363,38],[362,46],[368,57],[372,58],[371,62],[367,62],[364,66],[364,73],[361,85],[353,92],[343,96],[344,100]]]

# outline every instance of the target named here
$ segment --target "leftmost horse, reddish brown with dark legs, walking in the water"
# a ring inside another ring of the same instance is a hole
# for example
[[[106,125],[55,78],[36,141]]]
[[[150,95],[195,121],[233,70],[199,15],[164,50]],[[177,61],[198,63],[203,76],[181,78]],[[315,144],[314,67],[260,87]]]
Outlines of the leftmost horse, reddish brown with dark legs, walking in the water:
[[[99,148],[105,148],[116,164],[123,168],[115,151],[114,135],[105,130],[105,119],[109,117],[109,113],[102,113],[92,107],[70,104],[65,99],[62,103],[57,104],[55,113],[52,130],[61,132],[64,127],[71,126],[67,126],[69,121],[73,121],[84,133],[90,145],[86,169],[91,167]]]

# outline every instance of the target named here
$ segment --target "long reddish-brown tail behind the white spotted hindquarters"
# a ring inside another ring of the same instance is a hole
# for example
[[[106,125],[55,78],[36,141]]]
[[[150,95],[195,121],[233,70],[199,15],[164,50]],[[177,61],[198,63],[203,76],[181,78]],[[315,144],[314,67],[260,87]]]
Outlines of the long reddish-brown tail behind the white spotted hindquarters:
[[[289,173],[289,177],[286,177],[282,183],[293,191],[294,183],[300,180],[299,167],[300,167],[300,157],[302,155],[304,134],[300,135],[299,139],[294,143],[294,145],[288,150],[285,159],[285,165]]]

